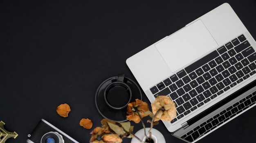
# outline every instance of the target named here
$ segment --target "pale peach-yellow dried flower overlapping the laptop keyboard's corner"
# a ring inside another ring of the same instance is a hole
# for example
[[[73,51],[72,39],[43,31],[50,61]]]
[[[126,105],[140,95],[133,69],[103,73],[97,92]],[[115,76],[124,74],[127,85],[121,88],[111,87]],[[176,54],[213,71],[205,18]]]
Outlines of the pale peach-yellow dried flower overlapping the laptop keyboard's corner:
[[[158,96],[151,107],[154,115],[159,109],[162,109],[157,114],[155,121],[171,121],[177,116],[175,103],[168,96]]]

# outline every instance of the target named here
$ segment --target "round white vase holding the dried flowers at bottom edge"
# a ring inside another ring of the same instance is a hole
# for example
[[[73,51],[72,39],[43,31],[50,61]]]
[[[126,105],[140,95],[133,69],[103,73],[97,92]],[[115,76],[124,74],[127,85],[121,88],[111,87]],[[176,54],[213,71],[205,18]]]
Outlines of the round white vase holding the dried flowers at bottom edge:
[[[146,128],[146,135],[149,137],[149,133],[148,133],[148,130],[150,128]],[[159,132],[158,130],[156,129],[152,129],[151,130],[151,136],[152,136],[152,140],[154,141],[154,143],[166,143],[165,142],[165,139],[164,139],[164,136],[161,132]],[[135,136],[137,136],[139,139],[141,139],[142,141],[146,141],[146,137],[145,137],[145,134],[144,134],[144,129],[141,129],[139,130],[138,132],[135,133]],[[140,142],[138,139],[136,139],[135,137],[132,138],[132,141],[131,143],[143,143],[143,142]]]

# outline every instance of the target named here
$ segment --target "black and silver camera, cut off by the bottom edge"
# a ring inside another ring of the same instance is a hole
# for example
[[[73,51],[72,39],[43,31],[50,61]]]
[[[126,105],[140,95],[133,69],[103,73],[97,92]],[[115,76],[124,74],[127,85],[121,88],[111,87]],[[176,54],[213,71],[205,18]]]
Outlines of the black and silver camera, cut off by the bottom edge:
[[[28,137],[27,143],[79,143],[44,119]]]

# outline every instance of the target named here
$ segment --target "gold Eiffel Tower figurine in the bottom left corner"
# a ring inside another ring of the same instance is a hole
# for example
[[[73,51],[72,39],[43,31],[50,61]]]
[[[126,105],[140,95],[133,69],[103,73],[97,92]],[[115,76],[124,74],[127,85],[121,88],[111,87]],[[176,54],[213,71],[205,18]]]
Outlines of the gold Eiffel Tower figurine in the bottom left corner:
[[[18,136],[16,132],[8,132],[4,129],[5,123],[3,121],[0,121],[0,143],[4,143],[9,138],[14,138]]]

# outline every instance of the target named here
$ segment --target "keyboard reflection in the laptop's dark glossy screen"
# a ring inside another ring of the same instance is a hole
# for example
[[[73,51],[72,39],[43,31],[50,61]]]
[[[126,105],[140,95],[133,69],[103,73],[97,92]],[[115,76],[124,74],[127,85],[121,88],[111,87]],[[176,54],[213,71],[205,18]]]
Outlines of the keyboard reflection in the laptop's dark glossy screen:
[[[246,98],[243,98],[239,102],[236,102],[235,104],[233,104],[233,106],[229,106],[220,113],[217,113],[212,118],[202,123],[200,126],[197,126],[194,129],[187,132],[186,134],[184,134],[181,138],[192,142],[195,139],[198,139],[200,136],[220,126],[221,124],[228,121],[235,115],[244,111],[245,109],[249,108],[249,106],[252,106],[253,104],[255,104],[255,102],[256,92],[248,95]]]

